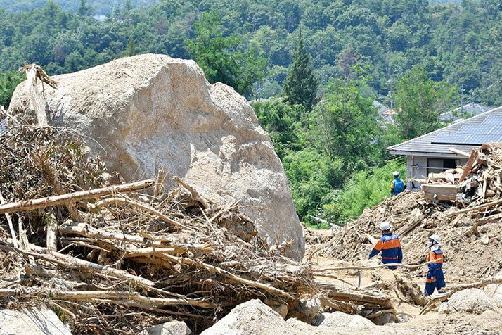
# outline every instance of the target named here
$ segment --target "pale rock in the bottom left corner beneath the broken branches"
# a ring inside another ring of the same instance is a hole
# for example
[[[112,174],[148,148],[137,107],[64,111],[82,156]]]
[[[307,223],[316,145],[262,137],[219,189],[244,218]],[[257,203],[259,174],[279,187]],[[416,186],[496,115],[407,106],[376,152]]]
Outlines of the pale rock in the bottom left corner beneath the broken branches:
[[[71,335],[70,329],[49,308],[0,310],[0,335]]]

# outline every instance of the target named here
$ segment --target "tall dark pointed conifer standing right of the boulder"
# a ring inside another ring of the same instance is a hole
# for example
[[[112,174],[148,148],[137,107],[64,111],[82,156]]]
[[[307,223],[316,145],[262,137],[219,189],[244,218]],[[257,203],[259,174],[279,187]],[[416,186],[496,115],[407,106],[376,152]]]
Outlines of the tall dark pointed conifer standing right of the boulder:
[[[291,104],[299,104],[307,110],[311,110],[316,103],[317,80],[314,77],[314,68],[311,65],[310,55],[305,50],[302,30],[298,35],[298,48],[295,59],[288,70],[284,81],[285,101]]]

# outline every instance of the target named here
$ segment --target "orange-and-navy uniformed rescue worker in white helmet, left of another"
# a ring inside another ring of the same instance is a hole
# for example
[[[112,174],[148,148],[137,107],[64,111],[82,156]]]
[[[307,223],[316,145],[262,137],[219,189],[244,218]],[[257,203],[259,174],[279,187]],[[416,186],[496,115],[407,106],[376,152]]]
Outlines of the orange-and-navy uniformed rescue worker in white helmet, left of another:
[[[375,247],[369,254],[369,258],[378,255],[380,251],[382,252],[382,263],[402,263],[403,262],[403,251],[401,249],[401,241],[396,234],[390,231],[390,223],[387,221],[382,222],[380,225],[380,230],[382,230],[382,237],[375,244]],[[390,270],[396,270],[396,266],[390,266]]]

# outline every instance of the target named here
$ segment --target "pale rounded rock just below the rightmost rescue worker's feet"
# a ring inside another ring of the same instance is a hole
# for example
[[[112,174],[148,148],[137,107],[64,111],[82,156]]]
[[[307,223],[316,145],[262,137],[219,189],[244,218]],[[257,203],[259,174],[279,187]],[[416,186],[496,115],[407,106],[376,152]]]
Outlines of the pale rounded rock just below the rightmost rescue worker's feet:
[[[470,312],[481,314],[487,310],[493,310],[494,305],[488,296],[480,289],[465,289],[453,293],[448,301],[439,306],[439,312]]]

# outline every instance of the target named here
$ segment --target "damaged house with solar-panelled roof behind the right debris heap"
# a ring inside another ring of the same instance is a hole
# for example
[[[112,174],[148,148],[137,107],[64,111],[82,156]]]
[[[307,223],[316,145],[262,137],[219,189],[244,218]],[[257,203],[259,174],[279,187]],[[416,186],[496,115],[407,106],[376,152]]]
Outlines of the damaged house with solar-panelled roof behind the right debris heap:
[[[426,179],[432,172],[465,165],[468,158],[451,152],[450,148],[470,153],[471,148],[499,141],[502,141],[502,106],[390,146],[387,150],[391,155],[406,156],[408,189],[420,189],[420,182],[416,179]]]

